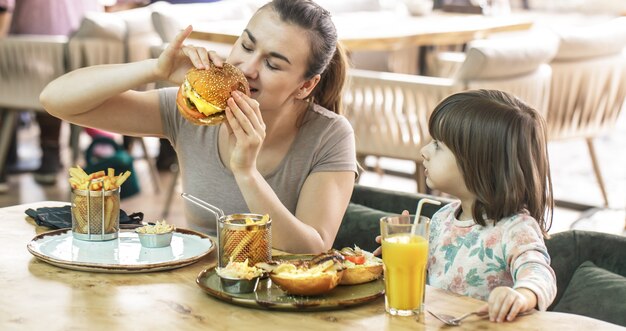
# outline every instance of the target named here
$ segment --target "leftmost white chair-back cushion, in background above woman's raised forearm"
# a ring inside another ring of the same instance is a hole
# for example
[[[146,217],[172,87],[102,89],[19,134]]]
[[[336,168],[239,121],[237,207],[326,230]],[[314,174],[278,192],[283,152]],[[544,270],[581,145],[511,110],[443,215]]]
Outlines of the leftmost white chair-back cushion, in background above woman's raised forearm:
[[[126,38],[126,22],[109,13],[88,12],[73,37],[123,41]]]

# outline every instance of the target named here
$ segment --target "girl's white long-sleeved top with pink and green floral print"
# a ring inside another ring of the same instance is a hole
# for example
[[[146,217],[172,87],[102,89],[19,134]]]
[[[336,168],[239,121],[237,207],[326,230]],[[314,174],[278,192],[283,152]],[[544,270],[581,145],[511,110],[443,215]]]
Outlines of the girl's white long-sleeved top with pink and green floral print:
[[[556,277],[535,219],[518,214],[481,226],[457,220],[459,208],[455,202],[433,216],[428,283],[481,300],[498,286],[524,287],[545,310],[556,295]]]

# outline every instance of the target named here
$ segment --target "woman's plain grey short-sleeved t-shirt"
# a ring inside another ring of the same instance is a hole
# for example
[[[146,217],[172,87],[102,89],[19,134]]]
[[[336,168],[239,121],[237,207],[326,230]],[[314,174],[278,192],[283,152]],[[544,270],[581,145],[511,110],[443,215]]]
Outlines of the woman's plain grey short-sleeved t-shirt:
[[[227,215],[249,212],[235,177],[218,155],[219,126],[198,126],[185,120],[176,109],[176,93],[177,88],[161,89],[159,102],[163,133],[178,156],[183,191]],[[305,114],[285,158],[264,178],[285,207],[295,213],[306,178],[327,171],[357,173],[354,131],[345,117],[316,105]],[[184,203],[187,225],[214,235],[215,216],[189,201]]]

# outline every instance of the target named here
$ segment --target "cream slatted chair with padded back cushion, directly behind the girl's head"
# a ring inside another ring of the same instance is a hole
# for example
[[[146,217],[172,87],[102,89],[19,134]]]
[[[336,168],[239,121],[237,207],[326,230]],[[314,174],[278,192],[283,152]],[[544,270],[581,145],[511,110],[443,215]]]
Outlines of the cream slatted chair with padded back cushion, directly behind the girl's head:
[[[555,38],[472,42],[453,78],[351,70],[346,117],[355,131],[359,160],[373,155],[414,161],[418,191],[425,192],[420,149],[430,140],[428,120],[435,106],[450,94],[485,88],[543,109],[551,78],[546,63],[556,49]]]

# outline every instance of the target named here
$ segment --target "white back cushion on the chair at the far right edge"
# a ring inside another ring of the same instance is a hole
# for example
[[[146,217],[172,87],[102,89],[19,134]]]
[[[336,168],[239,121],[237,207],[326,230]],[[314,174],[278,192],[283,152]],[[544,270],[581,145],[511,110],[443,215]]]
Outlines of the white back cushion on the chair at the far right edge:
[[[618,54],[626,45],[626,17],[588,27],[556,31],[561,39],[557,60],[574,60]]]

